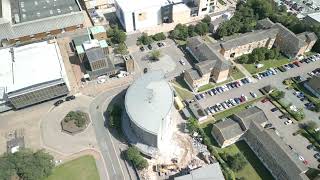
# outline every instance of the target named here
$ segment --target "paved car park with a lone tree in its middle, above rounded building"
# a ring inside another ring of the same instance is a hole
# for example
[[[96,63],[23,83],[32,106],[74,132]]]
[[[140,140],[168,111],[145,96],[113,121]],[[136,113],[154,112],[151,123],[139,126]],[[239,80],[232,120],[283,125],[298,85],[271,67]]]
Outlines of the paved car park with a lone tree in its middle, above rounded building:
[[[179,76],[184,70],[192,67],[174,41],[166,39],[161,42],[163,42],[163,46],[161,47],[157,45],[157,42],[154,42],[151,44],[151,50],[147,46],[143,46],[143,51],[136,48],[131,52],[141,71],[145,68],[147,68],[148,71],[162,69],[168,79],[173,79]],[[162,57],[160,57],[160,60],[150,60],[148,55],[152,50],[159,50],[161,52]],[[183,64],[180,62],[181,60],[183,60]]]

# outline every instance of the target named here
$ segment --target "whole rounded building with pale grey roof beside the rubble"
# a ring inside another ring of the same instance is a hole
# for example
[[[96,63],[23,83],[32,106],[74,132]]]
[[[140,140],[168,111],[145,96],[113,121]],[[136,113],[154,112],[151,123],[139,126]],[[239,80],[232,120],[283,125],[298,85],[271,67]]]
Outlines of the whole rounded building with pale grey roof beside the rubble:
[[[171,133],[173,91],[162,71],[153,71],[137,79],[127,90],[125,109],[133,134],[127,137],[142,152],[161,151]],[[125,123],[124,123],[125,124]],[[126,126],[126,125],[125,125]],[[126,127],[123,127],[125,131]],[[136,136],[136,140],[132,140]]]

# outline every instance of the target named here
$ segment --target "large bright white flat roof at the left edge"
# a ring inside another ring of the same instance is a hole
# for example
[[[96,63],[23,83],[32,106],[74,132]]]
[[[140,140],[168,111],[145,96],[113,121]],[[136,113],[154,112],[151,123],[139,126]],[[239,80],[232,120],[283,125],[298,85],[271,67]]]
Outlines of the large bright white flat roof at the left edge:
[[[64,77],[56,42],[0,49],[0,57],[0,87],[4,87],[6,93]]]

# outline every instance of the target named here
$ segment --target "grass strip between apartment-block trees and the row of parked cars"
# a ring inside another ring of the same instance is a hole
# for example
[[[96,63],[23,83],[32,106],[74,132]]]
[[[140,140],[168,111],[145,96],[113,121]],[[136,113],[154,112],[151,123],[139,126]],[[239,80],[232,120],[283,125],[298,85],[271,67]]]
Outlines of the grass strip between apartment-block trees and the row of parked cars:
[[[263,67],[261,68],[256,68],[255,64],[242,64],[243,67],[245,67],[247,69],[247,71],[249,71],[251,74],[256,74],[258,72],[264,71],[268,68],[271,67],[279,67],[282,66],[284,64],[287,64],[289,61],[289,59],[287,58],[281,58],[281,59],[275,59],[275,60],[265,60],[265,61],[260,61],[259,64],[264,64]]]

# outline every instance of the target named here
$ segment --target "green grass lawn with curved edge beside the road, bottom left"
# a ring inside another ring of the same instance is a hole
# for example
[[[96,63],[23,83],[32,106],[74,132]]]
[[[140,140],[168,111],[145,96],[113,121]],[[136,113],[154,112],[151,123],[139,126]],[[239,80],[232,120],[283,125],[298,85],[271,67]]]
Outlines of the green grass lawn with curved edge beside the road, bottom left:
[[[45,180],[99,180],[95,159],[86,155],[59,165]]]

